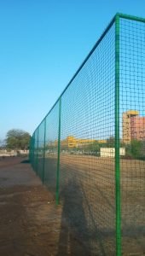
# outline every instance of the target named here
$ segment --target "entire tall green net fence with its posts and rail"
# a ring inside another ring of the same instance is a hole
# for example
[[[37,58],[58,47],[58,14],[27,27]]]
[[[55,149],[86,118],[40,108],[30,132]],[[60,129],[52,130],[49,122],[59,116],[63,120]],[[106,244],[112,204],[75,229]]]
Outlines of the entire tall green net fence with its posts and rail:
[[[145,253],[144,94],[145,19],[117,14],[32,135],[32,167],[86,255]]]

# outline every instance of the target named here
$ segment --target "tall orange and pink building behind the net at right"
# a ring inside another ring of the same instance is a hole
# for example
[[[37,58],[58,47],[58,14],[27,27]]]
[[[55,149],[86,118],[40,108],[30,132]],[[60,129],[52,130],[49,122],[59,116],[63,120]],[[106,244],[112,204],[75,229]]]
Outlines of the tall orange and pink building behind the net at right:
[[[139,116],[139,111],[129,110],[123,113],[123,142],[145,140],[145,117]]]

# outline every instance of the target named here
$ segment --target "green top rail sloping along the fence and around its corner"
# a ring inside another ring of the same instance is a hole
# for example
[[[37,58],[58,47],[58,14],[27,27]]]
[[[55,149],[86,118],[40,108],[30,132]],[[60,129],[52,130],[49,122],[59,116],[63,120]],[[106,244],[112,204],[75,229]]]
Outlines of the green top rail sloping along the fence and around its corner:
[[[62,91],[61,96],[63,96],[63,94],[65,93],[65,91],[67,90],[67,88],[69,87],[70,84],[72,84],[73,80],[76,78],[76,76],[78,75],[78,73],[80,72],[80,70],[84,67],[84,64],[86,63],[86,61],[89,60],[90,55],[92,55],[92,53],[95,51],[96,47],[102,42],[102,39],[105,37],[105,35],[107,34],[108,30],[111,28],[111,26],[113,26],[114,21],[116,20],[116,17],[119,16],[119,18],[123,18],[126,20],[136,20],[136,21],[140,21],[140,22],[145,22],[145,18],[140,18],[140,17],[136,17],[133,15],[125,15],[125,14],[121,14],[121,13],[117,13],[116,15],[113,16],[113,19],[110,21],[110,23],[108,24],[107,28],[104,30],[104,32],[102,32],[102,36],[96,41],[96,44],[94,45],[94,47],[90,50],[90,53],[86,56],[86,58],[84,59],[84,61],[82,62],[82,64],[80,65],[80,67],[78,67],[78,70],[76,73],[74,73],[73,78],[69,81],[69,83],[67,84],[66,88]],[[58,97],[58,99],[56,100],[55,104],[52,106],[52,108],[50,108],[49,113],[52,111],[53,108],[55,108],[55,105],[57,104],[57,102],[59,102],[61,96]],[[49,115],[49,113],[47,113],[44,116],[44,119],[46,119],[46,117]],[[41,123],[39,125],[41,125],[44,122],[44,119],[41,121]],[[35,129],[35,131],[37,131],[39,125],[37,126],[37,128]],[[34,131],[34,132],[35,132]],[[34,134],[33,132],[33,134]],[[32,135],[33,135],[32,134]]]

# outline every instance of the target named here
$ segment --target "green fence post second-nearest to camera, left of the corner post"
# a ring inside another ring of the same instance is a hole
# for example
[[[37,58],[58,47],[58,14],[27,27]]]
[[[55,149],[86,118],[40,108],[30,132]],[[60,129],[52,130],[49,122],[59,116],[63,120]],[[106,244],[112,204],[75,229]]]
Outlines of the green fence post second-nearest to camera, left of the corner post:
[[[60,189],[60,146],[61,146],[61,97],[60,97],[60,100],[59,100],[59,128],[58,128],[57,175],[56,175],[56,205],[59,204],[59,189]]]

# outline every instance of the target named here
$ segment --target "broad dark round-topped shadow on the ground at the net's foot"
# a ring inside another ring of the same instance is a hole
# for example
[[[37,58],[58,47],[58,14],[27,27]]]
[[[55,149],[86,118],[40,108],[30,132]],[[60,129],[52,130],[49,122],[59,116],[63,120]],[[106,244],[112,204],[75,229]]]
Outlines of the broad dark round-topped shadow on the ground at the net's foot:
[[[84,214],[83,195],[73,179],[61,191],[63,210],[57,256],[90,255],[90,239]]]

